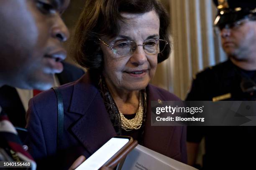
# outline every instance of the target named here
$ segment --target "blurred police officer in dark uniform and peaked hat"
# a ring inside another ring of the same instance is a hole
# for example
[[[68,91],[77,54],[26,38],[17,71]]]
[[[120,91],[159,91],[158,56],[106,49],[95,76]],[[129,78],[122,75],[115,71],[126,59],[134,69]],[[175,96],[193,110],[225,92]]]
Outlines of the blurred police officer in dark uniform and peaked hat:
[[[256,100],[256,2],[214,2],[214,25],[228,60],[198,73],[186,100]],[[203,137],[203,169],[256,169],[256,127],[188,127],[189,165]]]

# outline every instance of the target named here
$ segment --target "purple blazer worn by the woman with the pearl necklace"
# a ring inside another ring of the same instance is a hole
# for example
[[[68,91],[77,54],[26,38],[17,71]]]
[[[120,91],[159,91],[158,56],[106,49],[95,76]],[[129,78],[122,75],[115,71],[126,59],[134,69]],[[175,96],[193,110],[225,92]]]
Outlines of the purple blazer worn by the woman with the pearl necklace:
[[[28,138],[25,144],[36,160],[59,157],[64,167],[69,168],[80,155],[88,158],[116,133],[100,92],[88,74],[59,88],[64,102],[63,150],[56,156],[57,99],[52,89],[33,97],[29,102]],[[146,93],[148,108],[143,145],[187,163],[186,127],[151,126],[151,101],[180,99],[153,85],[146,87]]]

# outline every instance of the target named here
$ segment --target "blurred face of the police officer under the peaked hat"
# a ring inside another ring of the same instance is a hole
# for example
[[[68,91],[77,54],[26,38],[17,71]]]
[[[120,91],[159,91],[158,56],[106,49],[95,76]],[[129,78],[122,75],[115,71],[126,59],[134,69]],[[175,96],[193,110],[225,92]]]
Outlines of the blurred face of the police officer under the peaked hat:
[[[256,21],[242,20],[234,28],[221,30],[223,50],[236,60],[250,60],[256,51]]]

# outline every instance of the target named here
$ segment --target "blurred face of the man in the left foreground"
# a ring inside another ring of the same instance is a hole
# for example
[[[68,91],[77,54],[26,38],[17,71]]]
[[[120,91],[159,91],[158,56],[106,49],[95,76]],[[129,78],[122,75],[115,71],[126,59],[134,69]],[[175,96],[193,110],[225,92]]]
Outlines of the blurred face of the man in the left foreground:
[[[45,90],[63,70],[69,0],[1,0],[0,85]]]

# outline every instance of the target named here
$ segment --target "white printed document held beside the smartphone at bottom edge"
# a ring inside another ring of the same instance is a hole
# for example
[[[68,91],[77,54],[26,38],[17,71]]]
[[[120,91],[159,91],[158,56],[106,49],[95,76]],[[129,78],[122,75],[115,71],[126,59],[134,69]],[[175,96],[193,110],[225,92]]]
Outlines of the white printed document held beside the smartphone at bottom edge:
[[[120,167],[118,167],[120,168]],[[121,170],[197,170],[187,164],[137,145],[127,155]]]

